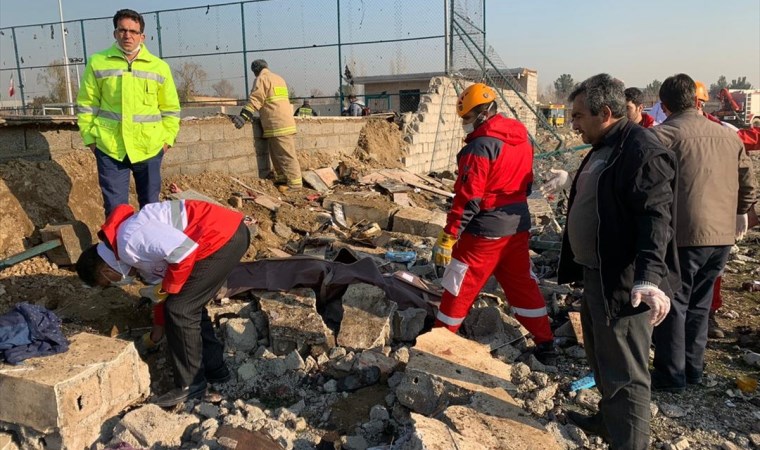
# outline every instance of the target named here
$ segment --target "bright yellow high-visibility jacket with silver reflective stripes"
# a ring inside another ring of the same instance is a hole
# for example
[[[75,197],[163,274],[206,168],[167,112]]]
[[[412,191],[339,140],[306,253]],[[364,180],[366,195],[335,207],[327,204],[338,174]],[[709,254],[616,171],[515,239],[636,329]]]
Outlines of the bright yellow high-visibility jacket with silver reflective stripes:
[[[116,45],[90,57],[77,96],[84,145],[133,163],[174,145],[180,106],[171,69],[144,44],[129,63]]]

